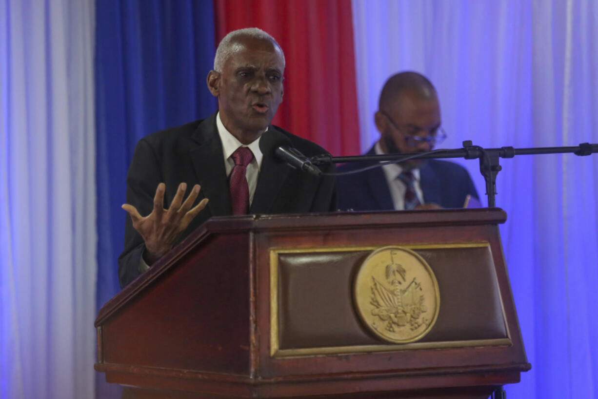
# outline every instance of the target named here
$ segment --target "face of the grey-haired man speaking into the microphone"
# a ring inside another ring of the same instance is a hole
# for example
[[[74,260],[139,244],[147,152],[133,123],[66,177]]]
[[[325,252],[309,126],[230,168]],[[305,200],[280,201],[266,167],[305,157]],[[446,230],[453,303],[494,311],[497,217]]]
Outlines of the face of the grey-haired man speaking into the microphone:
[[[233,49],[222,73],[208,75],[208,87],[218,96],[224,126],[240,141],[251,142],[270,125],[282,102],[284,63],[269,40],[241,37]]]

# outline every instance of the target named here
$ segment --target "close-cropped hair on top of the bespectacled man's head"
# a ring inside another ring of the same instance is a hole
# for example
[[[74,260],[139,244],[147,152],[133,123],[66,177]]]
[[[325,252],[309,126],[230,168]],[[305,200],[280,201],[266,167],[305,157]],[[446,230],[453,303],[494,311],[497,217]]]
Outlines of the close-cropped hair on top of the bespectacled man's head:
[[[434,85],[424,75],[417,72],[400,72],[389,77],[382,87],[378,109],[388,109],[399,98],[399,95],[405,92],[422,100],[437,98]]]

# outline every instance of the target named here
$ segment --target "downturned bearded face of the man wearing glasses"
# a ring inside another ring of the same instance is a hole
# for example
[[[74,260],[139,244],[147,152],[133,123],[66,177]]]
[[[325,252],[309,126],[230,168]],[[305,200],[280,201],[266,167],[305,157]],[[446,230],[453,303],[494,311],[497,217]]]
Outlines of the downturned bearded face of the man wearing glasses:
[[[409,137],[428,137],[440,128],[440,105],[435,94],[422,96],[411,90],[401,92],[395,101],[376,113],[380,146],[386,153],[424,152],[432,149],[425,140],[413,145]],[[401,166],[417,168],[420,160],[406,161]]]

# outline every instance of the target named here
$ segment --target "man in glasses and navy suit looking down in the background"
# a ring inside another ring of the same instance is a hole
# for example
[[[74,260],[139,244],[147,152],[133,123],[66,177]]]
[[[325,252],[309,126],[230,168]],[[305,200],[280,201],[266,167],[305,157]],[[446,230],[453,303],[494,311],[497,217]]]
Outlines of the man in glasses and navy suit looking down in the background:
[[[416,72],[386,81],[374,115],[380,140],[368,155],[429,151],[446,137],[432,83]],[[347,164],[339,171],[364,167]],[[466,197],[478,198],[465,168],[446,161],[411,160],[337,177],[341,210],[410,210],[460,208]]]

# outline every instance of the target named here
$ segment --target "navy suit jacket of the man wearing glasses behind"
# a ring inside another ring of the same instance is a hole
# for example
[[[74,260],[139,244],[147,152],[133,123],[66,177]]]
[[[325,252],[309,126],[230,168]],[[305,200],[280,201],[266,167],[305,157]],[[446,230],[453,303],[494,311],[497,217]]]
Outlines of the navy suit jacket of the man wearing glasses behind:
[[[374,147],[367,155],[375,155]],[[338,167],[339,172],[367,165],[361,162]],[[425,202],[435,202],[443,208],[462,208],[469,194],[478,198],[468,171],[453,162],[429,159],[420,167],[420,187]],[[382,168],[337,177],[338,208],[341,210],[393,210],[395,207]]]

